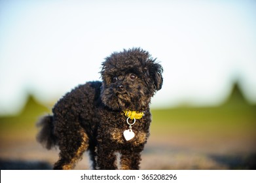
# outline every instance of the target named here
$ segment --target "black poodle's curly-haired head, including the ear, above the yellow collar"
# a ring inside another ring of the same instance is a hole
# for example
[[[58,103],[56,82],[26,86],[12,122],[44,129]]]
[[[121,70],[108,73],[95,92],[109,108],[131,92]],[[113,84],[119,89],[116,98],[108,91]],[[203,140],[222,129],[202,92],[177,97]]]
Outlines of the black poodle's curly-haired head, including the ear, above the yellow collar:
[[[101,100],[113,110],[143,111],[162,88],[162,66],[148,52],[114,52],[102,63]]]

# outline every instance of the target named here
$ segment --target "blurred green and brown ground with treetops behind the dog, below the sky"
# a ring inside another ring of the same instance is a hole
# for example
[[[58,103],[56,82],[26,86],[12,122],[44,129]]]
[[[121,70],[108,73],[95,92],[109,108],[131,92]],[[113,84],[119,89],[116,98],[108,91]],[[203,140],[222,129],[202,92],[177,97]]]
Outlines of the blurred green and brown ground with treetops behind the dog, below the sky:
[[[256,106],[234,90],[220,107],[152,110],[141,169],[256,169]],[[18,116],[0,116],[0,169],[51,169],[58,150],[35,141],[35,122],[50,112],[29,97]],[[75,169],[90,169],[84,154]]]

